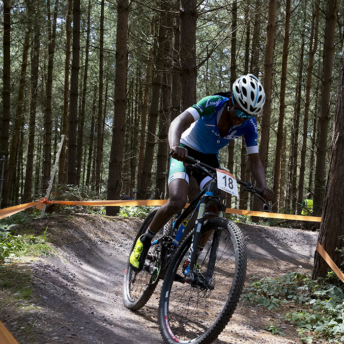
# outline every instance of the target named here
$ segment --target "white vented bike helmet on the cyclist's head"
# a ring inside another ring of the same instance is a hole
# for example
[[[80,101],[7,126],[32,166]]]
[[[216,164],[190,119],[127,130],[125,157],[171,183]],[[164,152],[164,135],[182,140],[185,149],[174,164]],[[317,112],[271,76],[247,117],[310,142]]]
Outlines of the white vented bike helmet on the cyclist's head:
[[[253,74],[240,77],[233,84],[233,95],[240,107],[250,115],[257,115],[265,103],[265,92]]]

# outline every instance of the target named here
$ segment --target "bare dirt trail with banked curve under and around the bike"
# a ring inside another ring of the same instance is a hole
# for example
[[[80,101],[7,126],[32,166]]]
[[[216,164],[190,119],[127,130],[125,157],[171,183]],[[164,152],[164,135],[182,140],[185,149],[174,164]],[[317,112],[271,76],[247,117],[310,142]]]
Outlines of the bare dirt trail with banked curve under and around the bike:
[[[22,259],[0,270],[0,320],[18,343],[162,344],[160,288],[137,312],[127,310],[122,301],[125,264],[141,223],[138,218],[60,214],[18,226],[18,233],[30,235],[46,230],[55,250],[51,257]],[[239,227],[248,248],[246,286],[252,276],[311,271],[317,231]],[[213,343],[301,343],[296,328],[282,318],[289,308],[268,311],[239,302]],[[264,330],[271,324],[286,336]]]

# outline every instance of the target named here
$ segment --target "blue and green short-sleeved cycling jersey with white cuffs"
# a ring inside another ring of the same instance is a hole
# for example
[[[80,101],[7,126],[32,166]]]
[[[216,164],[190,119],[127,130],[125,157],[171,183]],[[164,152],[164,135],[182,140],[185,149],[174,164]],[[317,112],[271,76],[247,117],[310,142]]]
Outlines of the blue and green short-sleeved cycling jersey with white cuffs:
[[[218,154],[231,140],[244,136],[247,153],[258,153],[255,117],[240,125],[233,125],[225,137],[220,137],[218,123],[228,101],[229,98],[213,95],[188,108],[187,111],[193,115],[195,122],[182,134],[180,143],[204,154]]]

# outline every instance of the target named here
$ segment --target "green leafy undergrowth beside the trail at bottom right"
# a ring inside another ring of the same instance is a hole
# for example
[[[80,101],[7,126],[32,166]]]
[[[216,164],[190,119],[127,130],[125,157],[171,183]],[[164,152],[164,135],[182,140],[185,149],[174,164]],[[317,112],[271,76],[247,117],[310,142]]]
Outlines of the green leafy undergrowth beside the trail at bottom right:
[[[299,272],[276,279],[252,277],[251,280],[244,289],[242,300],[268,310],[292,308],[293,311],[287,312],[283,318],[296,327],[303,343],[313,343],[316,338],[326,339],[329,343],[344,342],[343,284],[333,272],[316,281]],[[265,329],[285,335],[276,324]]]

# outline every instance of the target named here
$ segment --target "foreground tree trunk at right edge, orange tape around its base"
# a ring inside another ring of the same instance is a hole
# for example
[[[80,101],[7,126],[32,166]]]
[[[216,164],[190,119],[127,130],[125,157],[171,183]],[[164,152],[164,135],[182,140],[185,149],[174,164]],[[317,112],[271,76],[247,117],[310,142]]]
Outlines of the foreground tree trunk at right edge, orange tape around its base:
[[[343,155],[344,155],[344,45],[342,49],[337,102],[332,133],[330,171],[327,179],[326,197],[321,216],[318,242],[337,266],[343,262],[344,212],[343,212]],[[325,277],[329,266],[315,252],[313,279]]]

